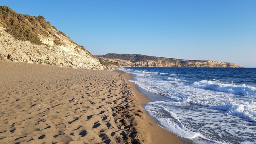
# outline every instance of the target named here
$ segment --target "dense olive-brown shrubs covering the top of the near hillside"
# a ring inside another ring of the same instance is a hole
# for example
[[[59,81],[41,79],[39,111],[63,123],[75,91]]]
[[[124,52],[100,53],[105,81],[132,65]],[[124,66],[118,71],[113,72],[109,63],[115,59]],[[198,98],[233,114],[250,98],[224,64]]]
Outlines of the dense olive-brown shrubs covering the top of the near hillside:
[[[51,27],[43,16],[18,14],[7,6],[0,6],[0,20],[6,32],[16,39],[28,40],[38,45],[42,44],[38,34],[47,36]]]

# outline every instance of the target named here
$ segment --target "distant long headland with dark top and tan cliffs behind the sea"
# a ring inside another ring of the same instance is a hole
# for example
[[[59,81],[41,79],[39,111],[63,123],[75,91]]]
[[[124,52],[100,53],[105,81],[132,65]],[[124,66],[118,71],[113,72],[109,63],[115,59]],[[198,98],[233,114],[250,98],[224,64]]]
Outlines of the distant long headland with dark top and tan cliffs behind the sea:
[[[181,60],[166,57],[147,56],[140,54],[114,54],[97,56],[101,61],[118,63],[125,67],[227,67],[241,68],[242,66],[230,62]]]

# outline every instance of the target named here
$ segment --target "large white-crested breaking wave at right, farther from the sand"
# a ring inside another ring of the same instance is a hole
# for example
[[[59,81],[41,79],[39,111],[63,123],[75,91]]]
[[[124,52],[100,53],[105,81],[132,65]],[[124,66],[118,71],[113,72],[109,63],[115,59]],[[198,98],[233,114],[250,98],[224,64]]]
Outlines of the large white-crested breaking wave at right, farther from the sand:
[[[231,94],[242,94],[242,95],[255,95],[256,88],[246,84],[236,85],[223,83],[218,80],[201,80],[192,84],[195,88],[202,88],[206,90],[215,90],[220,92],[227,92]]]

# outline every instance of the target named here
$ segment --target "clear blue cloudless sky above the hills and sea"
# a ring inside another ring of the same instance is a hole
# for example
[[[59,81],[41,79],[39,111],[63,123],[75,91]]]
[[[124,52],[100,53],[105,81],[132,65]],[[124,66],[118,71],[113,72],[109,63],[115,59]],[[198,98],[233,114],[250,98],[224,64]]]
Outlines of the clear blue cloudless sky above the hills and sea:
[[[256,0],[1,0],[95,55],[143,54],[256,67]]]

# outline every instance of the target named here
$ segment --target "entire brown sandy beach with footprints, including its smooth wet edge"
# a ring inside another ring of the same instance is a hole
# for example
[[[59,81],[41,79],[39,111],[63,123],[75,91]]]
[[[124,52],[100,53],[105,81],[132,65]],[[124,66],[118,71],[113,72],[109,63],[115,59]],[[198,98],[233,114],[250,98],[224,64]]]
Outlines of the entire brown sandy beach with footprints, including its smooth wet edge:
[[[0,143],[182,143],[124,75],[0,61]]]

